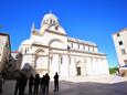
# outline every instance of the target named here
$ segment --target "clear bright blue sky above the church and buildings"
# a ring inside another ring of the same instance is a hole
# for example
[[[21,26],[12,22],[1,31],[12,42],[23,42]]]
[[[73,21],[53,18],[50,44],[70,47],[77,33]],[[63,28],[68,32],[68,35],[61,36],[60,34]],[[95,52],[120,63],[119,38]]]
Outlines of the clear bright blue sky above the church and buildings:
[[[0,0],[0,32],[10,34],[11,51],[30,38],[31,25],[40,29],[52,11],[68,36],[91,41],[117,66],[113,33],[127,27],[127,0]]]

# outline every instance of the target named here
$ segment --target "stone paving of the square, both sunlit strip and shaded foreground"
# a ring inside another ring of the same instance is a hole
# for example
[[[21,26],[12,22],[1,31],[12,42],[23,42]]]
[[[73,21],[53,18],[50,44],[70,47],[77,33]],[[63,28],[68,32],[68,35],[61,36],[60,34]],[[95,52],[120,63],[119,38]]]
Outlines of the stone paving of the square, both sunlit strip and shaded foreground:
[[[13,95],[14,81],[6,81],[1,95]],[[28,94],[28,87],[25,94]],[[40,92],[39,95],[42,95]],[[50,82],[49,95],[127,95],[127,77],[70,77],[60,80],[60,92],[53,92],[53,81]]]

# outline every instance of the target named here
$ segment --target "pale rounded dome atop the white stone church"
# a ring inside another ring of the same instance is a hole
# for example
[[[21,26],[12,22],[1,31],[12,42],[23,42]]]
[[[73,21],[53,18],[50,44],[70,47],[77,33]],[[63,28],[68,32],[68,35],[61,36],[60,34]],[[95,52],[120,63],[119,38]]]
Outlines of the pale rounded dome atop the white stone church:
[[[43,24],[55,24],[55,25],[57,25],[59,24],[59,20],[57,20],[57,18],[53,14],[53,13],[47,13],[47,14],[45,14],[44,15],[44,18],[43,18],[43,20],[42,20],[42,22],[41,22],[41,27],[43,25]]]

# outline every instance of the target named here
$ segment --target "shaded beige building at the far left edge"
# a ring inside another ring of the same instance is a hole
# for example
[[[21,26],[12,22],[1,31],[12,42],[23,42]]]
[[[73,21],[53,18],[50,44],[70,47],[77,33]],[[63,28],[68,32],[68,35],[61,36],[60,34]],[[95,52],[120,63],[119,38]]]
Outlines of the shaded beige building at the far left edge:
[[[0,33],[0,73],[6,73],[11,56],[10,36]]]

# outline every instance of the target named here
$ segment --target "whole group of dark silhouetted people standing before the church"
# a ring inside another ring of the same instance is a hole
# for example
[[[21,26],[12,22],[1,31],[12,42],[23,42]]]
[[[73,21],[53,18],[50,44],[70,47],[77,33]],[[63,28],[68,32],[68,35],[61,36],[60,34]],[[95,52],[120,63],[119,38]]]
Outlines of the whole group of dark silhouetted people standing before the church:
[[[34,94],[38,95],[39,91],[42,92],[42,94],[47,94],[49,93],[49,84],[50,84],[50,76],[46,73],[42,77],[40,77],[39,74],[33,76],[32,74],[28,78],[24,76],[24,74],[21,74],[20,77],[17,80],[17,85],[15,85],[15,92],[14,95],[17,95],[18,89],[19,89],[19,95],[24,95],[24,89],[27,86],[27,83],[29,81],[29,94]],[[59,74],[55,73],[54,75],[54,92],[59,91]]]

